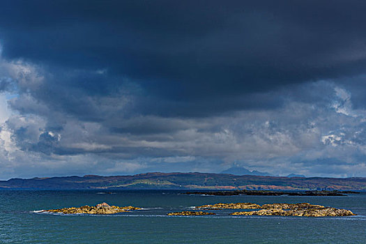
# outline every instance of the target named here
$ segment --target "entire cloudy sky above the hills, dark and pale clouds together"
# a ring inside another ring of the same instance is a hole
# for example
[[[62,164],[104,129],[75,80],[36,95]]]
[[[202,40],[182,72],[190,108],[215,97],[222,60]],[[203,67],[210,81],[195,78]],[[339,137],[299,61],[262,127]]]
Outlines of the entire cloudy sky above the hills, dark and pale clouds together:
[[[0,8],[0,179],[366,176],[365,1]]]

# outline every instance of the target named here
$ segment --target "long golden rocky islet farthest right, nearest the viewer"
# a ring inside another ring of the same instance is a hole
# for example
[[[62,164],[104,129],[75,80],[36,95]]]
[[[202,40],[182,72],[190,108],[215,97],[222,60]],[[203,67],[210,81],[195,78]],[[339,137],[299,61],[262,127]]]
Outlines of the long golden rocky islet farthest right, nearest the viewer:
[[[284,211],[282,208],[268,208],[259,211],[235,212],[230,215],[280,215],[280,216],[305,216],[305,217],[325,217],[325,216],[349,216],[356,215],[346,209],[338,208],[296,208]]]

